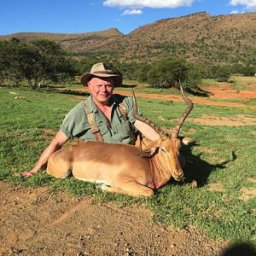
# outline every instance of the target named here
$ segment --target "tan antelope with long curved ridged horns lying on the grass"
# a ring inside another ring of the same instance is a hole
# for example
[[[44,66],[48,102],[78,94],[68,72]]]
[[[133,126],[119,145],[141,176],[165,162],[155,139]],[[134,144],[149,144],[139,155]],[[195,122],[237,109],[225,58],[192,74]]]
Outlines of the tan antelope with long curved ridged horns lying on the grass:
[[[134,145],[81,141],[61,148],[49,157],[47,173],[53,177],[73,177],[86,182],[102,183],[101,189],[131,196],[152,196],[171,177],[183,179],[178,133],[191,112],[193,103],[185,96],[187,109],[183,112],[176,128],[166,132],[149,119],[137,114],[137,102],[133,94],[133,115],[150,125],[160,138],[149,143],[142,151]]]

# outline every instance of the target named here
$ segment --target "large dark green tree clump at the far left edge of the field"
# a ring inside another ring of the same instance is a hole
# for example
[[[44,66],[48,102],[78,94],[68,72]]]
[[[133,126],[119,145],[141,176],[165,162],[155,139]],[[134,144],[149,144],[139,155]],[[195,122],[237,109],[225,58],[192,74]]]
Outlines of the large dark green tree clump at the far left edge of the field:
[[[37,40],[28,44],[17,39],[0,41],[0,81],[14,86],[26,80],[32,89],[61,83],[76,73],[73,61],[59,44]]]

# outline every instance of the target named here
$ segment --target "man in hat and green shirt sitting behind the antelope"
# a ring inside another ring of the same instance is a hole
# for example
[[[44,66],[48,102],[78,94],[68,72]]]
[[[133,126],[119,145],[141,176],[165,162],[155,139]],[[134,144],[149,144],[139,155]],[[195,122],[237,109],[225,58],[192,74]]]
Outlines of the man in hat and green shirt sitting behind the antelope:
[[[104,63],[96,63],[90,73],[84,73],[81,83],[88,85],[90,96],[79,102],[63,120],[49,146],[44,149],[36,166],[23,177],[31,177],[47,163],[49,156],[69,139],[98,140],[105,143],[136,143],[136,129],[148,140],[159,135],[153,128],[134,119],[131,98],[114,95],[113,89],[122,83],[122,77]]]

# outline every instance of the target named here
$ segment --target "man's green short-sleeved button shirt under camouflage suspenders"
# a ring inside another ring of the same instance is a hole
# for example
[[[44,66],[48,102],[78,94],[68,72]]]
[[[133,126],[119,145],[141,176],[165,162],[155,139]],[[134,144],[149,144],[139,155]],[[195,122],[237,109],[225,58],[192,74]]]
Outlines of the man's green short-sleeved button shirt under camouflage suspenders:
[[[94,119],[98,129],[101,131],[103,141],[105,143],[135,143],[135,131],[133,124],[136,121],[132,115],[132,98],[113,95],[110,98],[112,106],[111,124],[108,124],[106,116],[102,111],[96,107],[92,97],[88,98],[88,112],[94,114]],[[127,118],[125,120],[119,110],[119,103],[123,102],[127,111]],[[96,137],[90,129],[90,124],[84,109],[84,102],[79,102],[69,113],[67,113],[63,120],[61,127],[69,139],[80,138],[87,141],[95,141]]]

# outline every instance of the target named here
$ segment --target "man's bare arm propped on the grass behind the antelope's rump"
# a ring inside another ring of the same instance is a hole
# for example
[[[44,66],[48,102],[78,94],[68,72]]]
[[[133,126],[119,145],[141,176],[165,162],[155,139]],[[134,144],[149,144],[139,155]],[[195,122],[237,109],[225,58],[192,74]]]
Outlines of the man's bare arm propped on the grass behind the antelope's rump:
[[[23,177],[32,177],[33,174],[39,172],[43,166],[46,165],[49,156],[53,154],[55,151],[60,149],[64,143],[68,141],[68,137],[65,135],[63,131],[58,131],[55,135],[55,138],[51,141],[49,146],[44,149],[44,152],[41,154],[36,166],[32,168],[31,171],[15,173],[15,175],[21,175]]]

